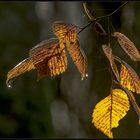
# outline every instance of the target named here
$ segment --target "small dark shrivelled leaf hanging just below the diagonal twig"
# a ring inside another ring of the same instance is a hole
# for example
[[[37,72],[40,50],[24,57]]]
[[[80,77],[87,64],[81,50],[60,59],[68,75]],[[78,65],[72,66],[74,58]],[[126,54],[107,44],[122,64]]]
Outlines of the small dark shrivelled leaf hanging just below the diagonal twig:
[[[95,22],[94,24],[94,30],[99,33],[100,35],[107,35],[106,31],[102,27],[102,25],[99,22]]]

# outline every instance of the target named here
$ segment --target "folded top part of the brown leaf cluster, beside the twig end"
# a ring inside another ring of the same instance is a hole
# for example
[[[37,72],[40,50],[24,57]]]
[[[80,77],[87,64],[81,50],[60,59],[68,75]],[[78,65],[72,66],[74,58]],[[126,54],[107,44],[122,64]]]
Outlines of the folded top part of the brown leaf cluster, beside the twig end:
[[[54,22],[52,28],[54,34],[59,38],[60,42],[63,43],[75,42],[80,29],[74,24],[65,23],[63,21]]]

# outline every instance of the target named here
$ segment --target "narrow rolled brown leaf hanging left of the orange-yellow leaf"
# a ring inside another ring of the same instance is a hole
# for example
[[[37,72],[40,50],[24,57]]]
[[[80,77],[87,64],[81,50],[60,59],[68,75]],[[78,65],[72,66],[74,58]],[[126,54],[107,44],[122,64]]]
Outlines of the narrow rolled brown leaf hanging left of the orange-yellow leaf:
[[[110,65],[111,65],[111,68],[112,68],[112,71],[114,72],[117,80],[119,81],[119,72],[118,72],[118,69],[117,69],[117,66],[114,62],[114,58],[113,58],[113,54],[112,54],[112,49],[110,47],[110,45],[102,45],[102,49],[105,53],[105,55],[107,56],[109,62],[110,62]]]

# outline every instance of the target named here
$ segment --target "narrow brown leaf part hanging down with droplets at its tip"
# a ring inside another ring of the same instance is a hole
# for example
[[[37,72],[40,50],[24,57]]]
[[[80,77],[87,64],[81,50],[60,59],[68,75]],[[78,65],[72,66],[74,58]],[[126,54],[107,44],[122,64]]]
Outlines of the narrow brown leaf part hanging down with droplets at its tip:
[[[82,80],[84,77],[87,77],[87,57],[80,47],[79,41],[77,40],[74,43],[67,44],[67,50],[69,54],[71,55],[73,62],[77,66],[79,72],[81,73]]]

